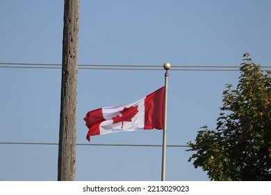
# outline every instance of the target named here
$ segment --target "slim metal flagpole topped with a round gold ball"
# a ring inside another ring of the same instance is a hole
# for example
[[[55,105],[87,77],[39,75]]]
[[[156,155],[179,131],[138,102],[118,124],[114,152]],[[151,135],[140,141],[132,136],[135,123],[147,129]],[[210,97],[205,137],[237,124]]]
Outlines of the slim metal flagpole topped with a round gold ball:
[[[165,181],[165,159],[166,159],[166,152],[167,152],[167,79],[168,79],[168,72],[170,70],[170,63],[164,63],[163,65],[165,71],[165,97],[164,97],[164,127],[163,127],[163,154],[162,154],[162,177],[161,180]]]

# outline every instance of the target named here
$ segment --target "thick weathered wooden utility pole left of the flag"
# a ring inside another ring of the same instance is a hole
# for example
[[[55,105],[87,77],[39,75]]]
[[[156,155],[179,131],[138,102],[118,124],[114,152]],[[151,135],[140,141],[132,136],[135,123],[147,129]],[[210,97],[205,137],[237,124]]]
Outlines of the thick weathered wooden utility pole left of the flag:
[[[79,0],[65,0],[58,180],[75,180]]]

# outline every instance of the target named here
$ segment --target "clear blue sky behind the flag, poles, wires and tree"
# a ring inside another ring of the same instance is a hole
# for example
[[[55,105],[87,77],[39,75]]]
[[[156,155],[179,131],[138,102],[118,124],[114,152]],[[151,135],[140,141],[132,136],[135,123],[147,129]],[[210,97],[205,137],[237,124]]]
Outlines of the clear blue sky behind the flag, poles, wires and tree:
[[[270,65],[271,1],[80,1],[79,64]],[[0,62],[61,63],[63,1],[0,1]],[[225,84],[239,72],[170,71],[167,143],[215,128]],[[0,68],[0,141],[58,143],[60,69]],[[79,70],[83,117],[133,102],[164,84],[164,71]],[[162,131],[92,137],[91,143],[161,144]],[[162,148],[77,146],[76,180],[161,180]],[[57,180],[58,146],[0,144],[0,180]],[[185,148],[167,149],[167,180],[208,180]]]

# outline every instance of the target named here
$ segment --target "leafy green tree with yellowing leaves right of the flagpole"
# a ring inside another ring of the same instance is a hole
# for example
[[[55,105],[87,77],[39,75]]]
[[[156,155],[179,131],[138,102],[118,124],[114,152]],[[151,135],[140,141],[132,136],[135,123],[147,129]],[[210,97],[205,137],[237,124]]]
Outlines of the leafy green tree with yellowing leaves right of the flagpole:
[[[215,130],[202,127],[195,143],[194,166],[211,180],[271,180],[271,78],[244,54],[236,89],[227,84]]]

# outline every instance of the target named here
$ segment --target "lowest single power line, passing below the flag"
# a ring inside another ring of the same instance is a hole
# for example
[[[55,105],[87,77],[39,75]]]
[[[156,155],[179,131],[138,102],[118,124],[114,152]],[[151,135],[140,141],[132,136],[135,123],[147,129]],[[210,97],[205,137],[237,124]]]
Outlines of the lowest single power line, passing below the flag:
[[[41,143],[41,142],[0,142],[0,144],[16,144],[16,145],[49,145],[58,146],[58,143]],[[162,147],[157,144],[115,144],[115,143],[76,143],[76,146],[130,146],[130,147]],[[167,145],[167,147],[187,148],[188,145]]]

